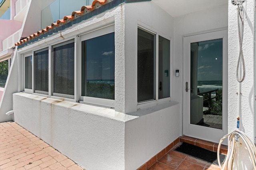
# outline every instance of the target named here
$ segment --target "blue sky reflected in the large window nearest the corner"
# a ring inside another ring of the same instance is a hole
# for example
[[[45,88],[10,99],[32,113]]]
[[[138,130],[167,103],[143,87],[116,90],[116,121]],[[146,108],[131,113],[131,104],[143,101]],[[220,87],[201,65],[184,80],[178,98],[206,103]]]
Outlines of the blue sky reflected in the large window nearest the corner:
[[[114,80],[114,33],[86,40],[87,80]]]

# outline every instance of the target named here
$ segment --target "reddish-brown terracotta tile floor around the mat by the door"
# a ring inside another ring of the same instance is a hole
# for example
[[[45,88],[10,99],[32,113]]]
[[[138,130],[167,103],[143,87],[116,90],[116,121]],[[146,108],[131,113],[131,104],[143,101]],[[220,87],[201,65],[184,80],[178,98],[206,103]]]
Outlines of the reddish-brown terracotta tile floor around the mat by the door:
[[[192,156],[174,151],[182,142],[214,152],[216,152],[218,148],[218,143],[181,136],[173,142],[173,145],[170,144],[166,149],[160,151],[156,156],[153,156],[148,162],[138,168],[138,170],[220,170],[215,164],[210,164]],[[227,146],[222,145],[220,147],[220,153],[227,154],[227,151]]]

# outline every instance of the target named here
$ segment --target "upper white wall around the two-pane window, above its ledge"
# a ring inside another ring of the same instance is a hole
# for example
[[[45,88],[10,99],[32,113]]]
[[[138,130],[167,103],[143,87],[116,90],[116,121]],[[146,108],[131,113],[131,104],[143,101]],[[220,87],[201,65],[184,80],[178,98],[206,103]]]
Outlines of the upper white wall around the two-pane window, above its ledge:
[[[138,27],[142,26],[153,33],[169,39],[172,46],[173,19],[153,1],[125,4],[125,113],[134,112],[137,109],[137,39]],[[157,52],[156,52],[157,53]],[[172,63],[172,48],[171,48]],[[174,75],[170,67],[170,91],[172,95],[175,87],[172,86]]]

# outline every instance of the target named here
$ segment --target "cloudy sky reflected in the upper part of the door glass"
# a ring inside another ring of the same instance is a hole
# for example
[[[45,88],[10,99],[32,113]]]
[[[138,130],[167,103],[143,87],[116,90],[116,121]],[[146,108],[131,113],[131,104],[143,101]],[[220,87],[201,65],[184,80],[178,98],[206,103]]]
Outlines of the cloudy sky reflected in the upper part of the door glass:
[[[222,39],[199,42],[198,80],[222,80]]]

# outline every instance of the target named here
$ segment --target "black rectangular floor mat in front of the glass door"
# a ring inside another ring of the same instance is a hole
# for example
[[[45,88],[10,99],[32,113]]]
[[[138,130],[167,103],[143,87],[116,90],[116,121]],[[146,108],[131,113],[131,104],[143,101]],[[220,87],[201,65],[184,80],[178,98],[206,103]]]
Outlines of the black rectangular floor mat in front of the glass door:
[[[188,143],[182,143],[178,148],[175,149],[178,152],[182,152],[184,154],[188,154],[190,156],[193,156],[195,158],[204,160],[206,162],[210,162],[212,164],[218,165],[218,158],[217,158],[217,152],[213,152],[210,150],[206,150],[203,148],[200,148],[195,145],[191,145]],[[223,162],[226,155],[220,154],[220,162]]]

